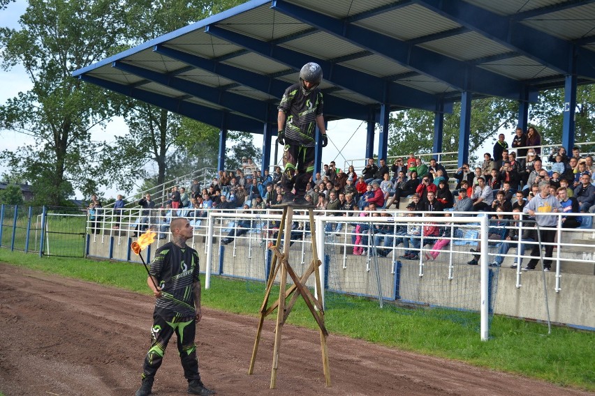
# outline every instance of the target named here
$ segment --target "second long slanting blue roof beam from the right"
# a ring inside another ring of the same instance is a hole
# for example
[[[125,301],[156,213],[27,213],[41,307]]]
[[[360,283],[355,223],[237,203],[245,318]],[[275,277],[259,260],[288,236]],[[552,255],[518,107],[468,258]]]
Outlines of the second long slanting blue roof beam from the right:
[[[348,40],[353,45],[413,68],[423,75],[439,79],[457,90],[515,100],[520,98],[520,82],[489,70],[475,68],[469,73],[461,73],[462,70],[469,70],[469,64],[283,0],[273,0],[272,8],[305,24],[316,26],[332,36]],[[432,102],[432,111],[434,103]]]

